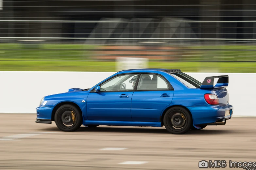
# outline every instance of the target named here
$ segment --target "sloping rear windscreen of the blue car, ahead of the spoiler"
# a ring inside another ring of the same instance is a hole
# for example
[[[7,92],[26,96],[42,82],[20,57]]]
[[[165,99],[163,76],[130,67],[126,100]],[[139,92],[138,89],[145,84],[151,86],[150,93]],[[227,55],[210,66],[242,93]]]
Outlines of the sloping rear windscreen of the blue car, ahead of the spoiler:
[[[193,78],[185,73],[182,73],[182,72],[174,72],[174,73],[169,73],[169,74],[171,74],[173,77],[177,78],[179,81],[181,81],[183,84],[185,84],[187,87],[189,87],[191,89],[200,88],[200,86],[202,84],[195,78]]]

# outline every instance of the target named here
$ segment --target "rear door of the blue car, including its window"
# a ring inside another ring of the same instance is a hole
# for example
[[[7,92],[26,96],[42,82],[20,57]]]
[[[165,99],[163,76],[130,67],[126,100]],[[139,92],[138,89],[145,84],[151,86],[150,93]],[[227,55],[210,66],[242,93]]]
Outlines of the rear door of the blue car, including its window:
[[[173,98],[171,84],[158,74],[141,74],[131,100],[133,121],[159,121],[161,112]]]

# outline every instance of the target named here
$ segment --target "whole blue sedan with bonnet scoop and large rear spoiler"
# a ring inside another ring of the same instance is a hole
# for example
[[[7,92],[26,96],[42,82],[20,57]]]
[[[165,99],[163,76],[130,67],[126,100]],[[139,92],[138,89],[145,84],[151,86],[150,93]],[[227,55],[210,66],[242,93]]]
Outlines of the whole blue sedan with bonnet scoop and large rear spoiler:
[[[133,69],[115,73],[89,89],[45,96],[37,123],[55,121],[62,131],[109,126],[165,126],[184,134],[226,124],[233,114],[228,76],[201,83],[180,69]]]

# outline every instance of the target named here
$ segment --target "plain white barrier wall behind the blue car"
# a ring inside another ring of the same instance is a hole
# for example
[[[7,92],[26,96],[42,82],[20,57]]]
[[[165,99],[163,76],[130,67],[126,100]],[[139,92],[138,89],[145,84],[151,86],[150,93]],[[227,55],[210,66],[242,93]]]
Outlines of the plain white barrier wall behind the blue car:
[[[36,113],[43,96],[86,89],[114,72],[26,72],[0,71],[0,113]],[[256,116],[255,73],[187,73],[200,82],[207,76],[229,75],[230,104],[234,116]]]

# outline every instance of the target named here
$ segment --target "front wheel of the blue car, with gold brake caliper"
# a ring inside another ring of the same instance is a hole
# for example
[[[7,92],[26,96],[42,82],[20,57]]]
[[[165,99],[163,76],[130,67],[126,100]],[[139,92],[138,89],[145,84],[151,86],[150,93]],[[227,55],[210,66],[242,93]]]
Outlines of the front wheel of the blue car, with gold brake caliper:
[[[74,120],[72,118],[72,112]],[[82,113],[73,105],[60,106],[54,115],[57,127],[64,132],[76,131],[82,124]]]

